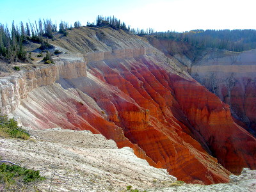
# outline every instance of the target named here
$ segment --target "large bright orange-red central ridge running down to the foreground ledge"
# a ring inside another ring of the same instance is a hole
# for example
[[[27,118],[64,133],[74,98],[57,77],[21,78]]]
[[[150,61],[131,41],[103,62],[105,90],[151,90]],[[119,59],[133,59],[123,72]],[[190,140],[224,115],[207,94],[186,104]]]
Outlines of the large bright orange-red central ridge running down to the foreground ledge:
[[[167,168],[179,179],[187,182],[204,180],[205,184],[227,181],[228,172],[221,170],[216,160],[191,138],[188,127],[180,122],[186,122],[186,119],[179,114],[180,109],[175,109],[179,104],[172,96],[173,89],[168,85],[168,73],[148,58],[130,63],[131,71],[125,69],[125,64],[115,63],[112,68],[105,63],[97,65],[102,74],[100,79],[104,78],[107,83],[118,86],[143,107],[140,111],[134,107],[127,109],[127,104],[111,100],[118,106],[122,104],[122,108],[116,107],[119,118],[111,120],[123,127],[125,137],[138,144],[159,167]],[[88,67],[95,71],[93,65],[89,64]],[[100,102],[97,103],[100,105]],[[103,105],[100,107],[104,108]],[[179,115],[180,120],[173,113]],[[189,122],[186,124],[189,125]],[[204,171],[199,173],[199,167],[209,172],[209,175],[205,175]]]

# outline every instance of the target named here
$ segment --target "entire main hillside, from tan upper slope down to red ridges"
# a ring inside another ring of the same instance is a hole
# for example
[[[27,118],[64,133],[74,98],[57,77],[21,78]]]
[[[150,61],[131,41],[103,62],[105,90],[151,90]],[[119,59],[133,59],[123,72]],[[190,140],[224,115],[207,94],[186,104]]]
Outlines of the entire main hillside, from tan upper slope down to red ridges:
[[[20,87],[26,90],[35,76],[13,77],[13,83],[1,86],[6,90],[1,98],[8,101],[2,102],[3,111],[33,129],[63,127],[103,134],[119,148],[133,148],[150,165],[166,168],[186,182],[227,182],[228,170],[255,169],[255,138],[232,120],[227,104],[175,61],[143,38],[123,31],[83,28],[75,32],[89,47],[100,50],[84,54],[87,72],[81,61],[66,70],[65,64],[60,70],[57,63],[52,72],[56,76],[45,72],[45,78],[53,80],[26,94]],[[80,40],[57,43],[87,51]]]

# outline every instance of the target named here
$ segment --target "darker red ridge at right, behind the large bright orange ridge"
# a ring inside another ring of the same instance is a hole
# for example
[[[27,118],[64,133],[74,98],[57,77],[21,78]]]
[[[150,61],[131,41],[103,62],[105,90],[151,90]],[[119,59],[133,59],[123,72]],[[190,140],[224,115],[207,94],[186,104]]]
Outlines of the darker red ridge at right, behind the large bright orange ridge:
[[[195,81],[172,76],[172,86],[189,122],[225,168],[237,174],[243,167],[256,168],[256,140],[233,122],[227,104]]]

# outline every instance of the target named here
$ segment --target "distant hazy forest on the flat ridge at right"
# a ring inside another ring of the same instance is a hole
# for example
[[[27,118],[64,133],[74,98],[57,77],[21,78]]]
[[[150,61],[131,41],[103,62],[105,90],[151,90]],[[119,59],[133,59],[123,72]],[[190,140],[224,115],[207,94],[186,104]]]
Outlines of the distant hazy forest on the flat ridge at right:
[[[157,38],[168,38],[177,42],[188,42],[196,49],[206,48],[226,49],[228,51],[248,51],[256,49],[255,29],[223,29],[223,30],[191,30],[186,32],[156,32],[151,35]]]

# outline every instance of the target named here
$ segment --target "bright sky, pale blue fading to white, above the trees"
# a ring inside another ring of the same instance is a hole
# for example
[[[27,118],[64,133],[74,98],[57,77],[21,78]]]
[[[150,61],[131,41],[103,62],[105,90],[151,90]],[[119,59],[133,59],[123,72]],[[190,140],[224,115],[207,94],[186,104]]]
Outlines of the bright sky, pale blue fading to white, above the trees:
[[[41,18],[86,25],[97,15],[115,15],[132,28],[155,31],[256,29],[255,5],[255,0],[0,0],[0,23]]]

